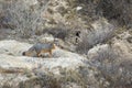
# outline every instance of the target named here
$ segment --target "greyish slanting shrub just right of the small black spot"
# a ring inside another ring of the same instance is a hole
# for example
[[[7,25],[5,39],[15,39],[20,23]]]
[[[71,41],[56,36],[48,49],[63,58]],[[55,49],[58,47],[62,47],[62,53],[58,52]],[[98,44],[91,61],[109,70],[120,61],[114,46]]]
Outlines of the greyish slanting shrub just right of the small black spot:
[[[80,34],[81,42],[77,45],[78,53],[87,54],[88,50],[99,43],[109,41],[114,35],[114,29],[111,24],[107,24],[103,21],[98,21],[92,30],[82,31]]]

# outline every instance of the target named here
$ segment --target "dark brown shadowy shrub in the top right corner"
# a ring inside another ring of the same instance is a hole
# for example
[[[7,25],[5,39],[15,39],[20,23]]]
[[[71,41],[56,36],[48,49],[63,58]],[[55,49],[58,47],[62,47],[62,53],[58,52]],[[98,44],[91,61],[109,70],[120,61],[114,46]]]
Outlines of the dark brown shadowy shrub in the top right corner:
[[[119,24],[129,26],[132,23],[131,4],[131,0],[100,0],[97,8],[107,19],[117,20]]]

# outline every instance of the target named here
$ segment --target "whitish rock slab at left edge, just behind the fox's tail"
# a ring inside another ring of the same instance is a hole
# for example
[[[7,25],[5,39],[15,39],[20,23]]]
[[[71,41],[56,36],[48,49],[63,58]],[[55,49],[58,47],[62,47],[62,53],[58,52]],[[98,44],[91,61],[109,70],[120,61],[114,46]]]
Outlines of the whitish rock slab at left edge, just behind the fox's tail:
[[[32,45],[28,43],[20,43],[14,40],[0,42],[0,54],[21,56],[22,52],[26,51]]]

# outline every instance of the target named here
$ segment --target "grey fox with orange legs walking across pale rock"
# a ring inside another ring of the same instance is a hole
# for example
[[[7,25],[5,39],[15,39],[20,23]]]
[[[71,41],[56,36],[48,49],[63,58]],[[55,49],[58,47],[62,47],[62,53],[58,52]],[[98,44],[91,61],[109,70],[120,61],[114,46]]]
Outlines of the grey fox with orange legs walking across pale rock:
[[[55,50],[54,43],[38,43],[33,45],[26,52],[23,52],[22,55],[24,56],[32,56],[32,57],[41,57],[42,54],[48,53],[50,57],[52,56],[52,50]]]

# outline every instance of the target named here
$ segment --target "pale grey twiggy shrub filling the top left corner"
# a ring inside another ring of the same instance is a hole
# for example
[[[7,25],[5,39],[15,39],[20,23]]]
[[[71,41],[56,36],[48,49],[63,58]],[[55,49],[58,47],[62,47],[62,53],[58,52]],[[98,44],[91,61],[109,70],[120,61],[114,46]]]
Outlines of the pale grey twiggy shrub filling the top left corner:
[[[30,37],[34,35],[37,29],[43,30],[42,13],[46,10],[48,1],[43,6],[34,2],[26,2],[25,0],[2,0],[1,11],[4,16],[0,18],[0,23],[3,25],[13,25],[20,36]]]

